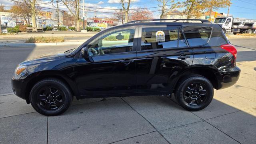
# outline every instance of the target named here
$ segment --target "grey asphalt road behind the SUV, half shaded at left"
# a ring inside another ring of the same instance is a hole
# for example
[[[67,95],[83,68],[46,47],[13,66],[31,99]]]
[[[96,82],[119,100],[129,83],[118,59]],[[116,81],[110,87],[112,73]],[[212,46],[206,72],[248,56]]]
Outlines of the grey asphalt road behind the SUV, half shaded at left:
[[[238,50],[237,62],[256,60],[256,40],[254,38],[230,39]],[[0,48],[0,94],[12,93],[10,80],[20,62],[42,54],[64,52],[78,45],[65,46],[30,46]]]

